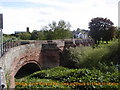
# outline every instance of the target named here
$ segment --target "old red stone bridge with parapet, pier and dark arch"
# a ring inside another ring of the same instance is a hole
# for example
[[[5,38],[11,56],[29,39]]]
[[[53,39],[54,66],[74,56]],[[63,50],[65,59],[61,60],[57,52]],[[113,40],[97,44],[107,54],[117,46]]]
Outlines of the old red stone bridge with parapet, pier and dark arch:
[[[14,43],[9,43],[13,45]],[[7,51],[0,58],[0,67],[4,70],[6,83],[10,88],[15,87],[15,78],[27,76],[35,71],[53,68],[60,65],[60,53],[64,46],[70,46],[63,40],[22,42],[17,47]],[[66,45],[64,45],[66,44]],[[8,47],[9,45],[6,44]],[[74,45],[72,45],[74,46]]]

